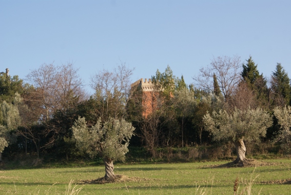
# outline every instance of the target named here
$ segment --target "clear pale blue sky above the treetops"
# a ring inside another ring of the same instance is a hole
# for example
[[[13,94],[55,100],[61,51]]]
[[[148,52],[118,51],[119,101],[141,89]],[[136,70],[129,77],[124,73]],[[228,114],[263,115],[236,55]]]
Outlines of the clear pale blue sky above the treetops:
[[[0,0],[0,72],[25,79],[69,62],[88,85],[123,62],[135,68],[132,82],[169,65],[190,84],[213,57],[237,54],[265,76],[281,63],[291,77],[290,10],[289,0]]]

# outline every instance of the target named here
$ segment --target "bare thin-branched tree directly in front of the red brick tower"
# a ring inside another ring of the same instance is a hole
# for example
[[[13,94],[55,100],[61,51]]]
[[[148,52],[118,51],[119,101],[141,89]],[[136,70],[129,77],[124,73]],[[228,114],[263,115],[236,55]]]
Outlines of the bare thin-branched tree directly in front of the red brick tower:
[[[153,87],[152,91],[143,91],[141,86],[132,89],[131,120],[136,122],[141,133],[137,134],[145,143],[145,148],[156,158],[156,149],[160,144],[169,146],[172,128],[167,128],[170,121],[174,121],[174,112],[165,103],[165,96]]]

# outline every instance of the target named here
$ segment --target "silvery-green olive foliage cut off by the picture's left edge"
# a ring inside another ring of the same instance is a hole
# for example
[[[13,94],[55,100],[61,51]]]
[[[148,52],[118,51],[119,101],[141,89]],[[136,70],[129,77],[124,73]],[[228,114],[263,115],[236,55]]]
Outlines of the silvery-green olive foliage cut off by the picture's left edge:
[[[15,133],[11,133],[12,130],[21,124],[21,118],[17,108],[17,102],[21,101],[21,97],[18,93],[15,94],[14,105],[3,101],[0,104],[0,153],[9,143],[16,141]]]

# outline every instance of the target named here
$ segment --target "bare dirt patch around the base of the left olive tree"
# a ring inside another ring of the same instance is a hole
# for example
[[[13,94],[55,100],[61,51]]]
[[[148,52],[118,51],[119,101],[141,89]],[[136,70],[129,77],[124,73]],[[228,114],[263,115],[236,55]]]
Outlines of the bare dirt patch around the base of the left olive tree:
[[[105,179],[105,178],[98,178],[96,180],[82,180],[81,184],[106,184],[106,183],[118,183],[118,182],[139,182],[139,181],[146,181],[149,179],[146,178],[138,178],[138,177],[127,177],[126,175],[115,175],[115,177],[111,179]]]

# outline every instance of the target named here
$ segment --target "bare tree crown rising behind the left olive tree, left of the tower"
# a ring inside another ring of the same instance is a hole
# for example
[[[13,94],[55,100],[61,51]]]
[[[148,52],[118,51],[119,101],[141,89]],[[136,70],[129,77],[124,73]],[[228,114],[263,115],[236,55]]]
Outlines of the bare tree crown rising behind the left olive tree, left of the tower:
[[[91,87],[96,90],[95,112],[104,122],[112,118],[124,118],[126,105],[130,99],[130,76],[134,69],[121,64],[113,71],[103,69],[91,76]]]

